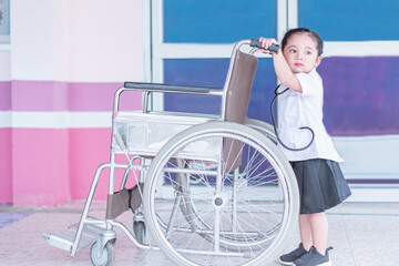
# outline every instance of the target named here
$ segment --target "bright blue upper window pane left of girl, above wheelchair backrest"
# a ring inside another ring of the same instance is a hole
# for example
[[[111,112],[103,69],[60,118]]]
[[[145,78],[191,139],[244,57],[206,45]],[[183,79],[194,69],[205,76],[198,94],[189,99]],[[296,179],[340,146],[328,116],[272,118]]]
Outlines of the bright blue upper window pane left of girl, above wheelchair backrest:
[[[164,0],[164,42],[233,43],[276,37],[276,1]]]

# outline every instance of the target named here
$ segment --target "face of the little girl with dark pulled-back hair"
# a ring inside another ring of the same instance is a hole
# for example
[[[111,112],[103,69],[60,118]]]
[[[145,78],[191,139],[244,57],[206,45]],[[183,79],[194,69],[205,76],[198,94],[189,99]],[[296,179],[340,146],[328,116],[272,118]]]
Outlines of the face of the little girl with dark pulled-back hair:
[[[307,33],[289,37],[283,54],[294,74],[308,73],[321,62],[317,42]]]

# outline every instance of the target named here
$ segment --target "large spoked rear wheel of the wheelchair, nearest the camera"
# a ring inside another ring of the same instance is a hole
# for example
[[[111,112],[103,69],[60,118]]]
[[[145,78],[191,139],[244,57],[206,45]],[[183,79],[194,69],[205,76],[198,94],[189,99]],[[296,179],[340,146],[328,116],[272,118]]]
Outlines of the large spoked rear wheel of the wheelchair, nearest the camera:
[[[213,122],[183,131],[147,176],[146,225],[178,265],[267,265],[295,228],[298,188],[289,163],[248,126]]]

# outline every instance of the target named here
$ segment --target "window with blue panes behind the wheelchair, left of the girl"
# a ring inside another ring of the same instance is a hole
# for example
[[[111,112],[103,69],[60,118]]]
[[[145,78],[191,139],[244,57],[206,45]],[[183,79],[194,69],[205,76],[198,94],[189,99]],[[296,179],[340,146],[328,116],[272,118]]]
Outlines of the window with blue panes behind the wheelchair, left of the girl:
[[[224,85],[233,43],[243,39],[277,35],[277,2],[246,0],[158,0],[162,29],[156,38],[154,81],[200,86]],[[156,13],[156,12],[155,12]],[[160,24],[160,23],[154,23]],[[284,25],[283,25],[284,27]],[[175,51],[175,52],[172,52]],[[276,84],[272,60],[260,59],[254,81],[248,116],[270,120],[265,103]],[[166,94],[164,110],[218,113],[219,100]]]

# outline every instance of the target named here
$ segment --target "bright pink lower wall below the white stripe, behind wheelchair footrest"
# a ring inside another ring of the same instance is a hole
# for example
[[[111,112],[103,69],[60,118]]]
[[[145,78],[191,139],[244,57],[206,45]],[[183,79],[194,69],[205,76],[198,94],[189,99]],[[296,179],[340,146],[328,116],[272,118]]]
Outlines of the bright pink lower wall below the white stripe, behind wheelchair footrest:
[[[9,135],[10,132],[4,139]],[[111,129],[13,129],[12,135],[19,140],[13,145],[12,162],[1,164],[16,165],[12,184],[1,188],[2,202],[11,202],[12,195],[14,205],[51,206],[84,200],[95,170],[110,161]],[[115,188],[122,174],[121,171],[116,174]],[[109,171],[104,171],[95,200],[106,200],[108,182]],[[133,180],[127,184],[132,186]]]

